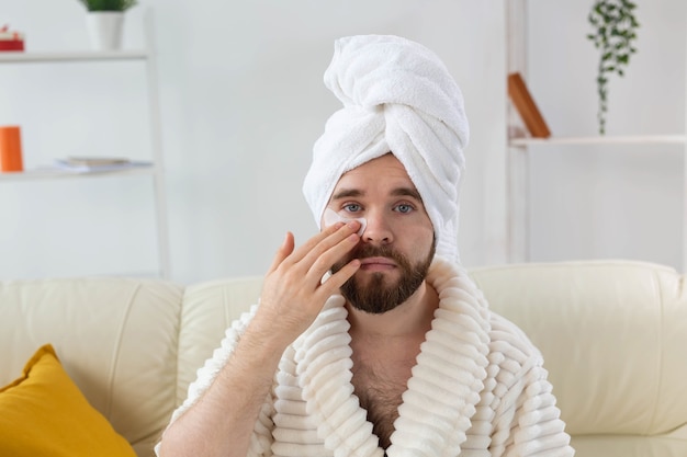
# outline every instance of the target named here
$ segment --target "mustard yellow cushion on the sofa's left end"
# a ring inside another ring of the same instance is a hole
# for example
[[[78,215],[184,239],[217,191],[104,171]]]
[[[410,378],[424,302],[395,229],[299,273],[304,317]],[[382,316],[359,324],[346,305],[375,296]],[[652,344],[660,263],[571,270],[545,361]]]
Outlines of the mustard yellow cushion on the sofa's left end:
[[[46,344],[0,388],[0,456],[136,457]]]

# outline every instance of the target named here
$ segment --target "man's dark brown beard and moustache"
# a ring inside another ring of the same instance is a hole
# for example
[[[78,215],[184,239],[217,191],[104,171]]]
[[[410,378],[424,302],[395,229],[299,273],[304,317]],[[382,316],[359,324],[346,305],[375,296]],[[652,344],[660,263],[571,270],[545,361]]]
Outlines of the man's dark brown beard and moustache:
[[[352,276],[340,288],[341,295],[353,308],[372,315],[381,315],[396,308],[415,294],[427,277],[436,248],[435,239],[427,258],[413,265],[405,255],[387,245],[361,244],[346,260],[335,263],[331,271],[338,272],[351,259],[376,256],[393,259],[401,272],[401,277],[395,283],[390,283],[383,273],[372,273],[364,285],[358,284],[356,276]]]

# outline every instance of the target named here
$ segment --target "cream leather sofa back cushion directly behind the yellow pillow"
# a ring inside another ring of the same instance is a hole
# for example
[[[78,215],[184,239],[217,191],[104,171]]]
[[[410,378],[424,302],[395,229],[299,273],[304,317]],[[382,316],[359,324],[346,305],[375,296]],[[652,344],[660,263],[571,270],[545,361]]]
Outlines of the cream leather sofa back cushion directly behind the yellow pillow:
[[[182,287],[155,279],[2,282],[0,386],[50,343],[91,405],[153,456],[177,398],[182,298]]]

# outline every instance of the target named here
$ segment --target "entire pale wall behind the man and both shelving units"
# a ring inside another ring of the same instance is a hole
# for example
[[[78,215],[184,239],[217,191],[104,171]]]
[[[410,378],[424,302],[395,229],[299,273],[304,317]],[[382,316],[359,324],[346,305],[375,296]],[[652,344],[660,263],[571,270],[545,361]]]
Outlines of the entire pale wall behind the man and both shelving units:
[[[590,0],[528,0],[528,84],[554,135],[596,133]],[[301,182],[338,108],[322,76],[336,37],[393,33],[435,49],[463,89],[472,139],[461,194],[468,266],[506,261],[505,0],[140,0],[159,59],[172,279],[261,274],[286,230],[315,230]],[[683,0],[640,1],[639,54],[611,81],[609,135],[682,134]],[[88,47],[77,0],[0,0],[30,50]],[[56,157],[146,158],[138,64],[0,67],[0,125],[20,124],[27,168]],[[682,267],[679,147],[532,149],[531,260],[621,256]],[[149,182],[0,182],[0,277],[157,267]]]

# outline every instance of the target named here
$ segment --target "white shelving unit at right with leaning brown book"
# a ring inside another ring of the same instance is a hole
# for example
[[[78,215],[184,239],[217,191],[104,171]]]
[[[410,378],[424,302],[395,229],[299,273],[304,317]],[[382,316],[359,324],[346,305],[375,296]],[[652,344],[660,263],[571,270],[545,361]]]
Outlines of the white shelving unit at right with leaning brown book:
[[[506,1],[507,25],[507,64],[508,73],[519,72],[527,79],[527,4],[528,0]],[[687,47],[686,47],[687,48]],[[686,95],[687,96],[687,95]],[[687,100],[685,100],[687,106]],[[685,133],[687,133],[686,114]],[[599,145],[678,145],[683,147],[685,158],[683,204],[682,263],[687,271],[687,135],[646,135],[646,136],[592,136],[592,137],[522,137],[519,114],[508,99],[508,210],[507,219],[507,258],[509,262],[528,262],[530,239],[529,205],[529,149],[550,146],[599,146]],[[517,132],[515,132],[517,130]]]

